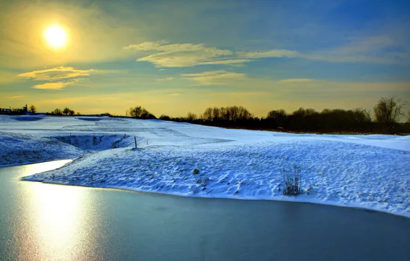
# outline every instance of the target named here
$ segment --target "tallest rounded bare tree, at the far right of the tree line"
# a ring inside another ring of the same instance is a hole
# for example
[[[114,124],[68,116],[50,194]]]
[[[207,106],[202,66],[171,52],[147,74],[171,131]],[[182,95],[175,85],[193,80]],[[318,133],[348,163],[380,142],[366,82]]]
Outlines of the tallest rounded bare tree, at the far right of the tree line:
[[[380,98],[373,108],[376,121],[390,128],[398,122],[400,116],[404,115],[403,107],[406,105],[407,102],[402,102],[396,97]]]

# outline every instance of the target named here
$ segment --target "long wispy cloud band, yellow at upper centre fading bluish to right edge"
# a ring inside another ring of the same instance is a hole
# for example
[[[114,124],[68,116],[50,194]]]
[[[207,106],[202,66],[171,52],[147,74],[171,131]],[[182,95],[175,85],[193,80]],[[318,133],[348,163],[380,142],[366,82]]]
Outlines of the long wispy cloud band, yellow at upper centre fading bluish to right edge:
[[[204,44],[169,44],[166,41],[144,42],[124,47],[139,54],[151,52],[148,56],[137,58],[138,62],[149,62],[155,67],[193,67],[196,65],[243,65],[262,58],[305,58],[325,60],[332,63],[406,63],[407,52],[393,51],[397,47],[387,36],[349,38],[338,47],[314,52],[299,52],[289,49],[268,49],[259,52],[242,52]],[[393,50],[391,49],[393,48]],[[152,54],[152,53],[155,54]]]

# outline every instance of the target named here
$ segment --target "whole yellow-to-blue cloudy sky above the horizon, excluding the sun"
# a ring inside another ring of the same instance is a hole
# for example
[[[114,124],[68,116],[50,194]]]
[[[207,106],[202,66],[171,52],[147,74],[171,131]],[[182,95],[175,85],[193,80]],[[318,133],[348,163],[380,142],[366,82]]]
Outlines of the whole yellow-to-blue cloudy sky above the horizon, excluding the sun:
[[[156,116],[410,100],[409,1],[0,1],[0,107]],[[67,41],[53,47],[50,26]]]

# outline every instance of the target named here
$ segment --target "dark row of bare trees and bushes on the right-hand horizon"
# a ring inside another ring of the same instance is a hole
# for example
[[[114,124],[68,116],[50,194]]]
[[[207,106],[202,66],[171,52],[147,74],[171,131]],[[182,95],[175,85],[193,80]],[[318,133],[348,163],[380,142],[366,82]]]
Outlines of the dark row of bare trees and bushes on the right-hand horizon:
[[[380,98],[373,114],[366,109],[314,109],[299,108],[292,113],[283,109],[269,111],[266,117],[255,117],[244,106],[209,107],[202,115],[189,112],[186,117],[160,115],[160,120],[191,122],[226,128],[249,128],[313,133],[410,133],[410,111],[407,124],[399,124],[407,102],[398,98]],[[127,117],[156,119],[142,106],[130,108]],[[374,118],[372,117],[374,116]]]

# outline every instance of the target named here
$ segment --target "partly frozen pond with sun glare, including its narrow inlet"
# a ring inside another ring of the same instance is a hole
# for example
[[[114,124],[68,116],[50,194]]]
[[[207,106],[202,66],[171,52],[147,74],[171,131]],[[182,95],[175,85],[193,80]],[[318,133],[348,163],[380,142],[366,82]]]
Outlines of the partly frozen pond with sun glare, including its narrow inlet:
[[[0,168],[0,260],[408,260],[410,219],[306,203],[20,181]]]

